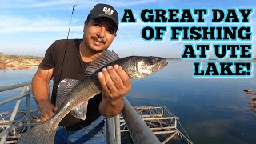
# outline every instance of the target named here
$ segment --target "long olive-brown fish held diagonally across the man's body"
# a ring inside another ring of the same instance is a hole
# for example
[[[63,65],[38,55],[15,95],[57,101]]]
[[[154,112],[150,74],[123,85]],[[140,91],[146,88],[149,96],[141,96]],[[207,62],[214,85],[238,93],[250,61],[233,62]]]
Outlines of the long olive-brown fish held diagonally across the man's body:
[[[154,74],[162,70],[168,62],[166,58],[161,57],[145,57],[145,56],[130,56],[125,58],[118,58],[114,62],[110,62],[102,68],[107,66],[114,66],[118,64],[129,75],[131,79],[145,78],[150,74]],[[90,98],[102,92],[102,87],[98,82],[98,73],[102,68],[96,70],[89,77],[86,77],[70,91],[67,95],[62,106],[58,108],[53,117],[45,122],[34,126],[32,129],[27,130],[18,138],[18,144],[52,144],[59,122],[66,114],[70,113],[75,107],[82,103],[88,102]]]

